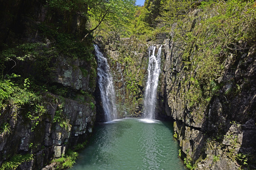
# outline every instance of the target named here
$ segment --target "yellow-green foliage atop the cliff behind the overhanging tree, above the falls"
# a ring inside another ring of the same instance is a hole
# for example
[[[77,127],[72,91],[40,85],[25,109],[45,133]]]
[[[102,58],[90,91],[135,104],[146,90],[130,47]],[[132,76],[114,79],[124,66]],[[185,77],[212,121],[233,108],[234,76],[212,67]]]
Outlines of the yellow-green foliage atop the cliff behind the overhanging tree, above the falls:
[[[130,17],[123,24],[104,23],[98,28],[95,35],[103,35],[108,42],[119,41],[123,37],[136,37],[140,41],[152,39],[154,37],[155,17],[158,15],[157,8],[159,0],[149,2],[147,8],[145,6],[133,7]]]

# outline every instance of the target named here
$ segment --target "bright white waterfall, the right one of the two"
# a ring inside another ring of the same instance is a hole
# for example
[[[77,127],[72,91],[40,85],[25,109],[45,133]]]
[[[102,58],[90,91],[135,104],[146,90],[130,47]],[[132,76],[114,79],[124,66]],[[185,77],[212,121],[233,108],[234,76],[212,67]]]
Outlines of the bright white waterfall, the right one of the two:
[[[158,77],[161,72],[161,48],[158,49],[157,56],[155,56],[156,46],[149,48],[149,64],[148,64],[148,79],[146,90],[144,94],[144,117],[147,119],[155,119],[155,104]]]

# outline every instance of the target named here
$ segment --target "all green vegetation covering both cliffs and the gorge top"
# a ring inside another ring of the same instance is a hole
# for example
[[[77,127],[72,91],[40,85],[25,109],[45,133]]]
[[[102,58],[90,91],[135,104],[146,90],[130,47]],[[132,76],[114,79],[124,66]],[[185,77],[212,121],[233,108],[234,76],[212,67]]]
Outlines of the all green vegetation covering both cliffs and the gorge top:
[[[22,31],[15,28],[20,24],[17,20],[21,19],[17,12],[6,12],[5,16],[9,17],[1,20],[2,23],[12,20],[12,24],[2,29],[6,34],[1,33],[0,40],[2,135],[11,133],[11,122],[17,121],[19,111],[24,108],[24,119],[33,131],[47,111],[44,101],[47,92],[80,102],[86,102],[83,96],[93,98],[93,91],[76,91],[57,84],[53,81],[53,73],[60,56],[69,61],[85,60],[88,67],[79,69],[84,76],[90,75],[90,89],[94,89],[94,38],[101,37],[106,44],[113,43],[123,51],[118,62],[125,66],[125,70],[130,70],[125,72],[125,77],[128,94],[134,96],[133,103],[142,102],[137,99],[142,98],[144,73],[137,76],[140,65],[131,51],[146,50],[138,43],[165,38],[176,41],[182,46],[184,69],[191,75],[181,82],[181,86],[191,86],[190,91],[184,93],[189,109],[193,110],[191,114],[202,113],[223,86],[218,78],[224,74],[224,61],[234,62],[240,51],[248,51],[256,43],[256,4],[253,0],[146,0],[142,7],[135,6],[134,0],[47,0],[43,4],[48,9],[44,21],[35,22],[38,18],[32,11],[22,11]],[[74,24],[74,16],[79,24]],[[196,22],[199,24],[195,25]],[[131,38],[131,48],[123,49],[118,44],[124,37]],[[239,93],[240,88],[237,83],[226,96]],[[195,107],[199,109],[193,109]],[[4,114],[6,110],[11,110],[10,116]],[[54,123],[65,127],[60,112]],[[70,153],[73,154],[76,157],[76,153]],[[5,166],[15,169],[21,162],[31,160],[31,156],[9,155],[9,161],[5,161],[1,169],[8,169]],[[233,159],[243,161],[242,156]],[[62,157],[59,162],[66,160],[74,162],[69,156]]]

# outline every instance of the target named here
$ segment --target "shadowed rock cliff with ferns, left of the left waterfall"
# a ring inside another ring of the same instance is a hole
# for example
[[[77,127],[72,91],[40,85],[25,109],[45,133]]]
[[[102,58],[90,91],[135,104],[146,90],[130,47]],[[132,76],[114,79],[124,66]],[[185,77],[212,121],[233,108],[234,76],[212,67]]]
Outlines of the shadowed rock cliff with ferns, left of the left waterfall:
[[[38,170],[93,131],[92,41],[77,41],[86,31],[78,14],[64,17],[44,0],[1,3],[0,169]]]

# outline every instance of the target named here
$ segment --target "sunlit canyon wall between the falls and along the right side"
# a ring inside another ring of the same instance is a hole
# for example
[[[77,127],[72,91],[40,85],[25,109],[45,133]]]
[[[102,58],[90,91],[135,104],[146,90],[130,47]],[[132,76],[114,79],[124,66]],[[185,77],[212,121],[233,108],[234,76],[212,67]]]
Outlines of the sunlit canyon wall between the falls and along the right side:
[[[163,44],[156,113],[158,119],[174,119],[174,137],[189,169],[255,169],[256,47],[236,41],[216,50],[217,40],[200,40],[200,34],[211,35],[201,32],[200,22],[214,15],[195,9],[182,30],[171,27],[168,38],[98,43],[110,59],[117,104],[126,116],[143,116],[148,47]],[[197,34],[192,40],[176,36],[191,31]]]

